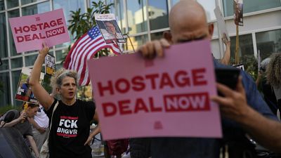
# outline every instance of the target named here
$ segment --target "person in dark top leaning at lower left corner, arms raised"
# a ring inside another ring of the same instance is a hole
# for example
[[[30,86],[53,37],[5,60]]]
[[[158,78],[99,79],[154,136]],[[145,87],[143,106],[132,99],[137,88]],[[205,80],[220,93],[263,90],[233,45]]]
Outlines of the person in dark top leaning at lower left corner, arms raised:
[[[27,118],[34,117],[37,114],[38,106],[36,104],[27,103],[27,109],[24,110],[25,103],[22,104],[22,111],[9,110],[0,119],[0,127],[14,127],[18,129],[22,136],[28,140],[35,157],[39,157],[39,150],[32,136],[32,126]]]

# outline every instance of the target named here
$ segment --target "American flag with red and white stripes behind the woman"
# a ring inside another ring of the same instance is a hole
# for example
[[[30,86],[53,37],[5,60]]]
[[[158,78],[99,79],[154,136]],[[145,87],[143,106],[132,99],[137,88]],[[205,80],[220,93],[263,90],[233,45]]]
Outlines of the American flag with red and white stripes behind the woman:
[[[103,48],[110,48],[113,53],[120,54],[119,46],[117,44],[105,44],[98,26],[95,26],[80,37],[70,49],[63,67],[67,70],[77,71],[77,81],[80,86],[86,86],[90,82],[86,61],[93,58],[93,55]]]

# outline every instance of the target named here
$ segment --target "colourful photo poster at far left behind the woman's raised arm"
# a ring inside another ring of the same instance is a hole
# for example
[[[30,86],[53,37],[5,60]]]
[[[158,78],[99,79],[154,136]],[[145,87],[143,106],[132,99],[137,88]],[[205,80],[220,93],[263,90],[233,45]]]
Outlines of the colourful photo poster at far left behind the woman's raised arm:
[[[32,70],[28,67],[22,67],[22,72],[20,73],[20,80],[18,81],[18,88],[15,93],[15,100],[37,104],[38,101],[34,97],[29,83],[31,71]],[[42,83],[43,79],[44,73],[41,72],[39,80],[40,84]]]

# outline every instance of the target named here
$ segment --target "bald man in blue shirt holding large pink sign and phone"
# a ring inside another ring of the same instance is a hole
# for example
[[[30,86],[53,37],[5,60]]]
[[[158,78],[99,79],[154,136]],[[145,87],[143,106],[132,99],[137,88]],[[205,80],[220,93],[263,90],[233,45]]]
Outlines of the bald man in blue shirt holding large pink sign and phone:
[[[207,24],[204,8],[195,1],[179,1],[169,14],[170,32],[164,39],[150,41],[139,51],[145,58],[163,57],[163,48],[201,39],[211,40],[214,25]],[[211,53],[211,52],[210,52]],[[204,58],[202,58],[204,60]],[[227,67],[214,60],[215,67]],[[243,86],[244,85],[244,86]],[[225,97],[211,96],[220,105],[223,138],[138,138],[131,140],[131,157],[192,157],[218,158],[220,151],[230,157],[255,156],[254,145],[245,137],[252,138],[271,150],[281,151],[281,124],[261,98],[251,77],[241,71],[235,91],[217,84]],[[258,111],[258,112],[256,112]],[[269,119],[268,119],[269,118]],[[183,122],[178,122],[184,126]],[[198,125],[200,126],[200,125]],[[274,142],[274,143],[273,143]],[[228,147],[226,147],[228,145]],[[224,150],[221,150],[224,149]]]

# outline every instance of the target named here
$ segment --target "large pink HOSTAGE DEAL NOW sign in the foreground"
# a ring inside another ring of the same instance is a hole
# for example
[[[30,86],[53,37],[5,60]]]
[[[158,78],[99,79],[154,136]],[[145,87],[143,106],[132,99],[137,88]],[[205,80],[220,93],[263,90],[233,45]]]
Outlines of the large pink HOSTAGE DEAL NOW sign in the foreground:
[[[219,138],[221,123],[209,41],[171,46],[164,58],[139,53],[89,60],[105,140]]]

